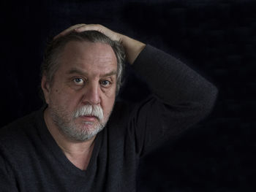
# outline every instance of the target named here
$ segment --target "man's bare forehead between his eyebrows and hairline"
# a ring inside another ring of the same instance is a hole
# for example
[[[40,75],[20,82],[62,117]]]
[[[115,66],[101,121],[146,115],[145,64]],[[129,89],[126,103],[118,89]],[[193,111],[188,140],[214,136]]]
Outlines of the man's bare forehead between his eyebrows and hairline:
[[[96,69],[117,68],[116,55],[110,45],[100,42],[68,42],[59,56],[60,68]]]

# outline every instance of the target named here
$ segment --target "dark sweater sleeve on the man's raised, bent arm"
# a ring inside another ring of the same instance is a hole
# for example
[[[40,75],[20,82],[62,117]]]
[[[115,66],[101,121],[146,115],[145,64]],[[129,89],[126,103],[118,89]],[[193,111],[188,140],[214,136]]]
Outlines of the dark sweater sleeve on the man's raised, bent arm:
[[[175,139],[214,107],[217,88],[162,50],[147,45],[133,67],[153,93],[131,113],[130,128],[139,155]]]

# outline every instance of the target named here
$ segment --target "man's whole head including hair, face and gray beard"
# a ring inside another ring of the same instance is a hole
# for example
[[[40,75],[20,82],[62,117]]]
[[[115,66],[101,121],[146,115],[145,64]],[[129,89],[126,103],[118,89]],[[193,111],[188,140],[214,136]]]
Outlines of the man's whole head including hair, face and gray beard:
[[[48,116],[65,137],[85,141],[107,123],[121,85],[124,50],[97,31],[71,33],[48,45],[42,91]]]

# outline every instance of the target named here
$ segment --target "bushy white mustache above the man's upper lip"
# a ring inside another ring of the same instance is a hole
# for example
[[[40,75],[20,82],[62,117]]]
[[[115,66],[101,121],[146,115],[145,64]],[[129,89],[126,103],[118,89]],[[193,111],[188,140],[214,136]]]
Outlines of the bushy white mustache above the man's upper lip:
[[[103,119],[103,110],[102,107],[98,105],[86,104],[83,107],[78,108],[74,112],[74,118],[78,118],[80,116],[95,116],[99,120]]]

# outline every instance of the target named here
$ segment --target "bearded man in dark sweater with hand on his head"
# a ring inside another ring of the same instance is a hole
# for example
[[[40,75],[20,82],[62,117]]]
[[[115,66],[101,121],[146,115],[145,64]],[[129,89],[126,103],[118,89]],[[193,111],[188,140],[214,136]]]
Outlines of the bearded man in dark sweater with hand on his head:
[[[124,53],[152,91],[140,104],[115,102]],[[86,24],[48,45],[42,92],[45,107],[1,128],[2,191],[136,191],[140,157],[206,117],[217,97],[176,58]]]

